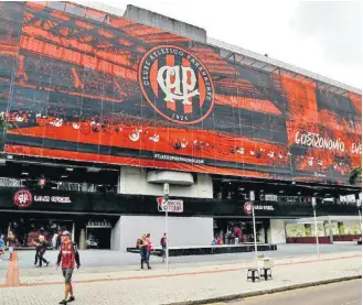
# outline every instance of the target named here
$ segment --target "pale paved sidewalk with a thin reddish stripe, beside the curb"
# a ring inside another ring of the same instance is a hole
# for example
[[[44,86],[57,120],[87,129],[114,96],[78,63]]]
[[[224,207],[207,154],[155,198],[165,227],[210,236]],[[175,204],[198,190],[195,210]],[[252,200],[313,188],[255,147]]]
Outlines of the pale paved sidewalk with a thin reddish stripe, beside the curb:
[[[74,273],[74,304],[172,304],[242,293],[279,288],[289,285],[327,281],[362,274],[361,251],[275,260],[273,281],[247,282],[246,268],[252,260],[225,264],[179,264],[166,271],[157,265],[150,271],[129,268],[81,269]],[[61,272],[54,269],[21,269],[17,260],[8,272],[8,287],[0,287],[3,304],[57,304],[63,294]],[[20,262],[21,265],[21,262]],[[17,277],[18,279],[14,279]]]

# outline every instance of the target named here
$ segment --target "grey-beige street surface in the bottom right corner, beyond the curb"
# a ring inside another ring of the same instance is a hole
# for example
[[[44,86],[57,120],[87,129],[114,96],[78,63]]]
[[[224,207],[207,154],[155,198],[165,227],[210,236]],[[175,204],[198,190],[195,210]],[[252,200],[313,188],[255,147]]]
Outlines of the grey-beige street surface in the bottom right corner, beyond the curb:
[[[223,305],[228,303],[214,303]],[[293,290],[269,295],[254,296],[233,302],[235,305],[360,305],[362,304],[362,280]]]

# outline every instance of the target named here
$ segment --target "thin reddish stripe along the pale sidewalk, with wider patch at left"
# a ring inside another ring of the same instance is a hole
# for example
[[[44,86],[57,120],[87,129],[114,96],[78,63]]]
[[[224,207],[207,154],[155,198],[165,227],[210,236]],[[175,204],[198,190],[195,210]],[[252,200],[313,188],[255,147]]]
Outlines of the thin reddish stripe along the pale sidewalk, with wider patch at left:
[[[325,259],[324,261],[335,261],[335,260],[344,260],[362,257],[361,254],[349,255],[349,257],[340,257]],[[275,264],[275,266],[285,266],[285,265],[298,265],[298,264],[307,264],[314,263],[321,260],[310,260],[310,261],[300,261],[300,262],[288,262]],[[245,268],[234,268],[234,269],[222,269],[222,270],[207,270],[207,271],[196,271],[196,272],[181,272],[181,273],[169,273],[169,274],[154,274],[154,275],[137,275],[129,277],[115,277],[115,279],[93,279],[93,280],[82,280],[82,281],[73,281],[78,284],[86,283],[95,283],[95,282],[114,282],[114,281],[130,281],[130,280],[149,280],[149,279],[158,279],[158,277],[175,277],[175,276],[185,276],[185,275],[201,275],[201,274],[213,274],[213,273],[224,273],[224,272],[236,272],[242,270],[247,270],[249,266]],[[9,281],[8,281],[9,277]],[[19,263],[18,263],[18,253],[14,252],[14,259],[9,264],[8,276],[7,276],[7,286],[9,287],[18,287],[18,286],[45,286],[45,285],[60,285],[64,284],[64,282],[47,282],[47,283],[20,283],[19,282]],[[0,286],[0,288],[3,288]]]

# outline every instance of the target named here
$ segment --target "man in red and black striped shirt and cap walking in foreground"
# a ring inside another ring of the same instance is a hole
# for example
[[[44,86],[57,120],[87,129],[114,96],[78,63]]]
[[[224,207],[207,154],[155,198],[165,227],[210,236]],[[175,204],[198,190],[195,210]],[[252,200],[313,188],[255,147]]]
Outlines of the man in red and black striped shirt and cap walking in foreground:
[[[61,250],[58,253],[58,258],[56,261],[55,269],[57,270],[60,263],[62,261],[62,272],[65,282],[65,291],[64,291],[64,298],[60,302],[60,304],[67,304],[67,302],[72,302],[75,299],[73,295],[73,287],[72,287],[72,273],[74,270],[74,265],[76,264],[77,269],[81,266],[79,262],[79,254],[77,251],[76,246],[71,240],[71,233],[68,231],[62,232],[62,244]],[[67,296],[70,294],[70,298]]]

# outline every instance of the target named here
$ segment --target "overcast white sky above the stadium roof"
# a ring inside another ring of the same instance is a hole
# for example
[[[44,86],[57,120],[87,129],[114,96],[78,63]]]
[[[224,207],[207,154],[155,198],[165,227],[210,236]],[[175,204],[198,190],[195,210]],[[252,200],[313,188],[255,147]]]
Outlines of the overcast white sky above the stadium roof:
[[[210,37],[362,88],[360,1],[100,0],[135,4],[206,30]]]

